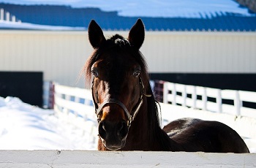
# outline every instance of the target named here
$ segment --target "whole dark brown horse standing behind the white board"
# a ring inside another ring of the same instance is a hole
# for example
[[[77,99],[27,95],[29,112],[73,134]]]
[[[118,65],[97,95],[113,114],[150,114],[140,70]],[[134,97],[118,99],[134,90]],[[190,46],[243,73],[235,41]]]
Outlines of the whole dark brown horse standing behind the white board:
[[[182,118],[161,129],[146,62],[139,49],[145,30],[139,19],[128,39],[105,39],[91,20],[94,52],[86,62],[99,122],[99,150],[170,150],[248,153],[241,137],[224,123]]]

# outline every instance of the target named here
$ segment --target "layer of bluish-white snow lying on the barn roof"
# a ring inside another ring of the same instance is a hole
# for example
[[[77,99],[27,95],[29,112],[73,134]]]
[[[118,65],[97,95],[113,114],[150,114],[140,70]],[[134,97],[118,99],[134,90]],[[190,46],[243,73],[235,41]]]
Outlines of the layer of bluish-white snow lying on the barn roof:
[[[12,4],[54,4],[71,7],[97,7],[103,11],[118,11],[121,16],[164,17],[164,18],[211,18],[227,12],[252,16],[248,9],[239,7],[233,0],[1,0]]]

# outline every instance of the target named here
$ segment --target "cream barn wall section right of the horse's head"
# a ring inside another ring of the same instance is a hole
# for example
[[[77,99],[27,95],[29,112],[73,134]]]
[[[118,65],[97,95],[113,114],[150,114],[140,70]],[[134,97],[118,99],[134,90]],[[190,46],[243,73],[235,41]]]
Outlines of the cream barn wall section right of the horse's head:
[[[147,32],[151,72],[256,72],[256,33]]]

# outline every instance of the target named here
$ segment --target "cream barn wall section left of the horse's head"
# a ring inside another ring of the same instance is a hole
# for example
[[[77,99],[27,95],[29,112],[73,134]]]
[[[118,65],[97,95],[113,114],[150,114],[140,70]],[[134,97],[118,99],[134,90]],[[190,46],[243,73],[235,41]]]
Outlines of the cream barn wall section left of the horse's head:
[[[1,71],[41,71],[44,80],[65,85],[75,85],[92,51],[80,31],[1,31],[0,39]]]

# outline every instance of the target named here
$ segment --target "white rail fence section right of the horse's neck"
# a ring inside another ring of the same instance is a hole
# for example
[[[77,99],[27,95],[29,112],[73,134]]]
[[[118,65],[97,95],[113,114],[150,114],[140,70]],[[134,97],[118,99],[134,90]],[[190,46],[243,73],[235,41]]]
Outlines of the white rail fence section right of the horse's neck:
[[[225,104],[223,100],[228,100],[231,103]],[[243,106],[243,102],[256,105],[256,92],[220,90],[166,82],[163,87],[163,102],[256,118],[255,109]]]

